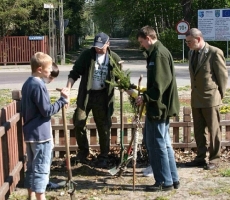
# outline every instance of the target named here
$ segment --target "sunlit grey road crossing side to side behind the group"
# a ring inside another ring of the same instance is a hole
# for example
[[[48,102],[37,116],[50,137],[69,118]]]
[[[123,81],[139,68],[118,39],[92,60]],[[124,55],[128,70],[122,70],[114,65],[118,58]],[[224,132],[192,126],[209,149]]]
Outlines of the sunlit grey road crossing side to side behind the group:
[[[58,78],[47,85],[48,89],[55,89],[56,87],[64,87],[67,81],[69,70],[72,65],[60,65],[60,74]],[[138,79],[143,74],[142,84],[146,84],[146,68],[145,61],[127,61],[123,65],[123,69],[129,69],[131,71],[131,82],[138,83]],[[190,85],[190,77],[187,64],[176,64],[176,80],[178,86]],[[228,68],[230,75],[230,68]],[[23,66],[0,66],[0,89],[21,89],[22,84],[30,76],[29,65]],[[78,88],[79,81],[74,85],[74,88]],[[230,86],[230,80],[228,80],[228,86]]]

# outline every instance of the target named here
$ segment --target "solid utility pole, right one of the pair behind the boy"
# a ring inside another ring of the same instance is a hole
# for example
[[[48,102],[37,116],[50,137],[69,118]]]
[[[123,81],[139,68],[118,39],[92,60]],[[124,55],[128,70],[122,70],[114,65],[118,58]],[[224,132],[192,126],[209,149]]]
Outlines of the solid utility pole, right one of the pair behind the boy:
[[[59,0],[59,26],[60,26],[60,58],[61,65],[65,64],[65,34],[63,19],[63,0]]]

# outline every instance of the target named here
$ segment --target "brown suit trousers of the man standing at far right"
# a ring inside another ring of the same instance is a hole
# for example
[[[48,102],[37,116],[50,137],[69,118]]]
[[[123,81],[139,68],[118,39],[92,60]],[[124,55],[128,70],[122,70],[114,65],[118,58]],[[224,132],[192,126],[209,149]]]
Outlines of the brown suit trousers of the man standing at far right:
[[[221,155],[219,106],[211,108],[192,108],[192,115],[197,144],[196,160],[207,161],[206,152],[209,146],[209,161],[218,162]],[[208,133],[210,134],[209,145]]]

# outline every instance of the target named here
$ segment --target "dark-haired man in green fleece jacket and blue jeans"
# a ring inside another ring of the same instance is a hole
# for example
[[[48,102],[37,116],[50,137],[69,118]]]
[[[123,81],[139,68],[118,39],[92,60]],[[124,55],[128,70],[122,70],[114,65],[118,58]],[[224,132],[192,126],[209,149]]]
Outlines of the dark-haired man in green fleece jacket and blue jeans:
[[[173,58],[168,49],[157,40],[150,26],[140,29],[137,39],[147,59],[147,90],[137,97],[137,105],[146,103],[145,143],[155,184],[147,191],[179,188],[174,151],[169,135],[169,117],[179,114],[179,98]]]

